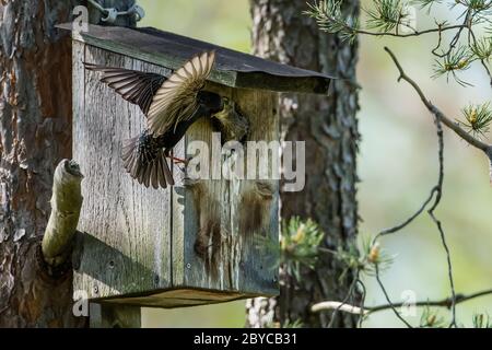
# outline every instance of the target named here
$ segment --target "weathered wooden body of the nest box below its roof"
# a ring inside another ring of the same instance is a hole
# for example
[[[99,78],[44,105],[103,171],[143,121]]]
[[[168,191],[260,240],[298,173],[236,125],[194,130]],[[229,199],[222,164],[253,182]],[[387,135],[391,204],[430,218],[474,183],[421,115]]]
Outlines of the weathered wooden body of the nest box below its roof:
[[[122,166],[121,142],[141,132],[144,118],[81,62],[165,75],[169,70],[74,44],[73,153],[86,176],[75,290],[87,291],[96,301],[154,307],[277,294],[276,255],[262,250],[258,237],[278,242],[278,180],[222,177],[220,140],[214,144],[215,130],[207,118],[188,130],[174,155],[190,156],[188,145],[204,141],[210,158],[219,155],[219,163],[210,162],[215,166],[210,174],[219,177],[185,180],[175,165],[173,188],[147,189],[132,180]],[[238,104],[251,122],[248,141],[278,140],[276,93],[214,83],[207,90]],[[226,158],[234,163],[236,155]],[[255,163],[260,158],[256,155]]]

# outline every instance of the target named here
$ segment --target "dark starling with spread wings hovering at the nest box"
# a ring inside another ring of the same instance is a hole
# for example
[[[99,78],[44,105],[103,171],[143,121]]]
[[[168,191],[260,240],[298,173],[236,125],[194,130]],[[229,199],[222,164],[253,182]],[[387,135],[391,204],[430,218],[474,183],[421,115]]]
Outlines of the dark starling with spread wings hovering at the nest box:
[[[168,79],[161,74],[84,63],[103,72],[101,81],[126,101],[137,104],[147,117],[147,130],[124,141],[126,171],[145,187],[166,188],[174,179],[166,158],[186,130],[201,117],[223,109],[220,95],[203,91],[215,52],[203,52],[185,62]],[[174,159],[178,162],[184,162]]]

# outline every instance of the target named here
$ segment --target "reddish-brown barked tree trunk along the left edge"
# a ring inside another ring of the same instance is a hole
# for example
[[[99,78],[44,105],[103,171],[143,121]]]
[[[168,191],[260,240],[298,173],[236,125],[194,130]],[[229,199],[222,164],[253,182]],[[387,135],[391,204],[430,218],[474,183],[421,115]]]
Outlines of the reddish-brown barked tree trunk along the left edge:
[[[72,149],[71,44],[54,26],[79,2],[0,2],[0,327],[86,325],[71,267],[48,271],[40,255],[52,174]]]

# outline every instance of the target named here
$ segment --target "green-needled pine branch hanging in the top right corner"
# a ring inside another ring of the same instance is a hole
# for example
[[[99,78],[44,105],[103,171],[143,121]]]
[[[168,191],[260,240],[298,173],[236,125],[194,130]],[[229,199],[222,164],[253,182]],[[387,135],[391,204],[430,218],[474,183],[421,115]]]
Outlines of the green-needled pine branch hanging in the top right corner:
[[[427,14],[434,3],[440,0],[414,0],[421,9],[427,8]],[[467,86],[470,83],[459,79],[457,73],[468,69],[472,62],[479,61],[490,78],[492,86],[492,72],[488,66],[492,55],[492,42],[490,36],[477,39],[473,32],[475,26],[482,23],[492,23],[492,1],[485,0],[456,0],[449,1],[450,7],[464,7],[465,10],[458,16],[457,24],[448,24],[447,21],[435,21],[435,27],[418,31],[410,23],[410,10],[406,1],[402,0],[374,0],[370,9],[363,9],[368,19],[365,27],[361,25],[359,19],[345,18],[341,11],[340,0],[321,0],[307,3],[308,10],[304,14],[315,19],[319,28],[330,34],[337,34],[342,39],[354,42],[358,35],[368,35],[376,37],[418,37],[426,34],[437,34],[437,45],[432,49],[437,60],[435,65],[434,78],[446,75],[454,78],[460,85]],[[402,32],[400,28],[405,28]],[[372,31],[373,30],[373,31]],[[407,33],[409,32],[409,33]],[[453,34],[447,48],[442,49],[443,34]],[[462,45],[461,37],[468,33],[467,44]]]

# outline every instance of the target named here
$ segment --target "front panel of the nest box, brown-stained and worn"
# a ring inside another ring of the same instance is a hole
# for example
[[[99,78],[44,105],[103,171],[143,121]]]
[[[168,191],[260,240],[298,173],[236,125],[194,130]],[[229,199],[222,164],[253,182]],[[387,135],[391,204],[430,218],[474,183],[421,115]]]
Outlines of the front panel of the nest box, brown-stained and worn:
[[[279,140],[278,94],[266,91],[233,89],[209,84],[208,90],[226,96],[237,104],[248,118],[249,131],[243,140],[244,172],[248,141]],[[215,139],[214,138],[215,132]],[[216,147],[218,129],[209,120],[194,125],[175,152],[185,155],[194,141]],[[224,135],[222,142],[224,142]],[[220,147],[220,144],[219,144]],[[279,182],[276,179],[230,179],[223,176],[227,163],[234,168],[239,162],[236,153],[216,150],[222,162],[215,162],[210,150],[209,174],[222,174],[221,179],[197,180],[175,187],[185,190],[174,195],[173,235],[174,282],[197,288],[238,291],[247,295],[278,294]],[[273,150],[278,152],[279,150]],[[216,152],[215,152],[216,153]],[[186,154],[192,156],[194,154]],[[260,153],[251,154],[256,165]],[[215,168],[214,168],[215,167]],[[225,178],[224,178],[225,177]],[[183,237],[183,238],[181,238]],[[270,244],[266,244],[269,242]],[[272,249],[273,247],[273,249]],[[181,253],[183,252],[183,253]]]

